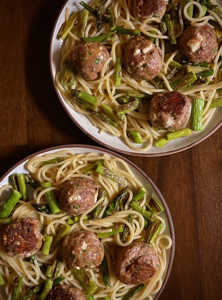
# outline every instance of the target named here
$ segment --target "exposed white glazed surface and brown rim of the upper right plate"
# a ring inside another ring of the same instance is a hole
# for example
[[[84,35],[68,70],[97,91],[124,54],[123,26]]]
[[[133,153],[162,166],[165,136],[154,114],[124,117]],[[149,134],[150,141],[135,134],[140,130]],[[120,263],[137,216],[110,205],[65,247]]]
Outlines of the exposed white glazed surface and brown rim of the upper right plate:
[[[89,0],[85,2],[89,3]],[[219,4],[222,4],[222,0],[218,0]],[[183,137],[181,139],[173,140],[168,143],[163,148],[158,148],[155,145],[148,149],[146,152],[139,152],[133,149],[130,149],[129,146],[125,143],[125,140],[120,137],[115,137],[114,135],[104,132],[102,135],[99,134],[99,128],[93,126],[87,117],[81,113],[75,112],[68,103],[62,98],[62,95],[55,83],[56,73],[60,70],[60,61],[61,61],[61,49],[62,49],[62,40],[57,38],[57,33],[64,22],[65,18],[65,8],[69,7],[70,11],[82,10],[82,6],[76,0],[67,0],[65,1],[62,9],[59,12],[59,15],[56,19],[55,25],[53,27],[51,41],[50,41],[50,50],[49,50],[49,61],[50,61],[50,71],[52,76],[52,81],[56,94],[58,95],[59,101],[61,102],[63,108],[65,109],[68,116],[71,120],[77,125],[85,134],[87,134],[91,139],[95,140],[97,143],[105,146],[114,151],[135,155],[135,156],[162,156],[177,153],[183,150],[186,150],[190,147],[195,146],[196,144],[202,142],[211,134],[214,133],[222,125],[222,108],[219,107],[214,112],[211,117],[210,122],[202,131],[199,131],[195,134],[192,134],[188,137]]]

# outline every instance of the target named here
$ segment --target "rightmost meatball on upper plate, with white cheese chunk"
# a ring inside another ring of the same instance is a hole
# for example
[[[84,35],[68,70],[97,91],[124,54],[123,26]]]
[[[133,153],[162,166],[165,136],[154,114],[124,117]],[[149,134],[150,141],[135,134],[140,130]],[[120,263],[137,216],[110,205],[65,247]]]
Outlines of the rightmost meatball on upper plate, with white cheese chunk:
[[[217,55],[217,38],[208,25],[189,26],[179,40],[181,52],[193,62],[211,62]]]

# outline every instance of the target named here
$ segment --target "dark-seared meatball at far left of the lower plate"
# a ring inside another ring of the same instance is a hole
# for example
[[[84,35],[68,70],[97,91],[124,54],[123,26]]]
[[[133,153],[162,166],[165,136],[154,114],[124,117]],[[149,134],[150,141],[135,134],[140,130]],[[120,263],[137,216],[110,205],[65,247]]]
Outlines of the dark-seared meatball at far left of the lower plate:
[[[23,258],[38,252],[42,245],[40,225],[40,221],[34,218],[22,218],[10,224],[3,234],[7,255]]]

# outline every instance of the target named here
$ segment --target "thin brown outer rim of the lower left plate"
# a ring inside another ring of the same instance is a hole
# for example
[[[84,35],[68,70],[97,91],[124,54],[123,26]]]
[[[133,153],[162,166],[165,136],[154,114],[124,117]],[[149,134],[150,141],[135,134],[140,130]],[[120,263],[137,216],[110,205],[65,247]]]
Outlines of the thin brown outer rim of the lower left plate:
[[[20,160],[19,162],[17,162],[16,164],[14,164],[14,166],[12,166],[8,171],[6,171],[0,178],[0,182],[2,182],[3,179],[5,179],[6,176],[8,176],[8,174],[13,171],[16,167],[18,167],[20,164],[23,164],[24,162],[26,162],[28,159],[32,158],[33,156],[36,155],[41,155],[44,152],[48,152],[48,151],[52,151],[52,150],[59,150],[59,149],[64,149],[64,148],[85,148],[85,149],[91,149],[91,150],[97,150],[100,152],[105,152],[108,154],[111,154],[115,157],[121,158],[123,161],[125,161],[127,164],[129,164],[130,166],[132,166],[133,168],[135,168],[142,176],[144,176],[144,178],[149,182],[149,184],[151,184],[152,188],[155,190],[155,192],[157,193],[158,197],[160,198],[164,208],[165,208],[165,212],[166,212],[166,216],[167,216],[167,220],[169,223],[169,230],[170,230],[170,235],[171,235],[171,239],[172,239],[172,246],[171,246],[171,251],[170,251],[170,258],[169,258],[169,265],[166,271],[166,276],[163,280],[162,286],[160,288],[160,290],[157,292],[156,296],[154,297],[153,300],[157,300],[160,296],[160,294],[162,293],[163,289],[166,286],[166,283],[168,282],[170,273],[172,271],[172,265],[173,265],[173,261],[174,261],[174,256],[175,256],[175,231],[174,231],[174,226],[173,226],[173,220],[172,220],[172,216],[171,213],[169,211],[169,207],[167,205],[167,202],[165,200],[165,198],[163,197],[163,194],[161,193],[161,191],[159,190],[159,188],[157,187],[157,185],[153,182],[153,180],[147,175],[147,173],[145,173],[144,170],[142,170],[137,164],[135,164],[134,162],[130,161],[128,158],[125,158],[124,156],[113,152],[111,150],[108,149],[104,149],[102,147],[98,147],[98,146],[91,146],[91,145],[83,145],[83,144],[68,144],[68,145],[59,145],[59,146],[54,146],[54,147],[49,147],[37,152],[34,152],[31,155],[26,156],[25,158],[23,158],[22,160]]]

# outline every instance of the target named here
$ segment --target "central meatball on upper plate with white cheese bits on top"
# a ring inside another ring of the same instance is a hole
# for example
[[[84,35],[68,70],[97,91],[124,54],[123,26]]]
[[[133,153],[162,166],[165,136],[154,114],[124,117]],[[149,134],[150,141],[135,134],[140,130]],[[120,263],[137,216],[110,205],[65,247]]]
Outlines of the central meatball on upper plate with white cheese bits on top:
[[[135,80],[154,79],[162,67],[163,53],[145,37],[132,38],[126,46],[124,67]]]

